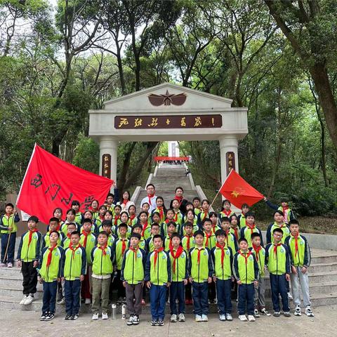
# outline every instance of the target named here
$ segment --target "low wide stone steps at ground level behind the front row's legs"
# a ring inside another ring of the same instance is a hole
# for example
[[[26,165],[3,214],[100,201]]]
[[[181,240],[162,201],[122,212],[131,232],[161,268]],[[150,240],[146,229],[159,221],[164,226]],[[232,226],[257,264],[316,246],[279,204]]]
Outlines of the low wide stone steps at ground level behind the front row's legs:
[[[312,263],[310,273],[310,297],[312,306],[336,305],[337,304],[337,251],[312,249]],[[272,309],[269,277],[266,277],[266,304],[267,309]],[[39,311],[42,307],[42,285],[37,286],[36,300],[31,305],[20,305],[22,299],[22,274],[17,267],[0,268],[0,309],[1,310],[33,310]],[[143,312],[150,313],[150,305],[145,305]],[[233,312],[236,305],[233,302]],[[293,305],[291,303],[291,308]],[[90,312],[91,305],[81,305],[81,312]],[[65,312],[64,305],[56,305],[59,314]],[[121,308],[118,307],[118,312]],[[216,305],[210,305],[211,312],[217,312]],[[169,313],[169,305],[166,305]],[[186,312],[192,312],[192,305],[187,305]]]

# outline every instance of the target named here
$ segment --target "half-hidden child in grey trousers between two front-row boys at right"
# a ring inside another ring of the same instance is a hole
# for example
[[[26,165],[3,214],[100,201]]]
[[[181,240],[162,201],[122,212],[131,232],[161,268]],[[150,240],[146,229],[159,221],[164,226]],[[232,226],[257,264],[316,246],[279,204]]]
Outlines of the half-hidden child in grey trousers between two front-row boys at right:
[[[251,234],[251,242],[252,246],[249,250],[253,252],[258,263],[258,286],[255,287],[254,293],[254,317],[260,317],[260,313],[270,316],[270,313],[265,310],[265,249],[261,246],[260,234]]]

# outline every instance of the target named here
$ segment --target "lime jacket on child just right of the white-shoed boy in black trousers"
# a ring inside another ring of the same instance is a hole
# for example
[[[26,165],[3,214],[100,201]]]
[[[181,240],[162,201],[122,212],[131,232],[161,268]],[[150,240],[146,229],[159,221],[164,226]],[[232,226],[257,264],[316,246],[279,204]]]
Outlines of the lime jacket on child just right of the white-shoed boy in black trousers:
[[[53,249],[51,264],[47,267],[49,248],[50,246],[47,246],[42,249],[39,260],[39,275],[44,282],[54,282],[61,277],[63,249],[60,246]]]

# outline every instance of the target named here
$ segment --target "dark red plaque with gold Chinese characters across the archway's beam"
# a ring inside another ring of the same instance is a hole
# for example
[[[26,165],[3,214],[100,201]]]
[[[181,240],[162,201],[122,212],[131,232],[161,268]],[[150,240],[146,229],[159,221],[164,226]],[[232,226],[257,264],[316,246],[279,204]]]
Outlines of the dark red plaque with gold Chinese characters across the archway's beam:
[[[117,129],[221,128],[221,126],[223,126],[223,120],[220,114],[114,117],[114,127]]]

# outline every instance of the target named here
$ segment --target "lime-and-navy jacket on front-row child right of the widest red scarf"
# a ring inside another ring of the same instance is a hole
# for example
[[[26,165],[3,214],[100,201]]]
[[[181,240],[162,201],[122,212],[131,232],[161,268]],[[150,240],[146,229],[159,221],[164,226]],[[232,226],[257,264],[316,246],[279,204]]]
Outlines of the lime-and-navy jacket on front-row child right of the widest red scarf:
[[[198,251],[200,251],[199,263]],[[190,249],[187,270],[193,282],[207,282],[207,279],[213,276],[211,251],[207,247],[199,249],[197,246]]]

